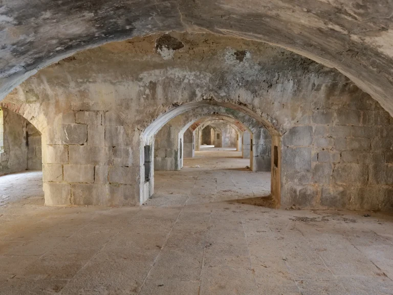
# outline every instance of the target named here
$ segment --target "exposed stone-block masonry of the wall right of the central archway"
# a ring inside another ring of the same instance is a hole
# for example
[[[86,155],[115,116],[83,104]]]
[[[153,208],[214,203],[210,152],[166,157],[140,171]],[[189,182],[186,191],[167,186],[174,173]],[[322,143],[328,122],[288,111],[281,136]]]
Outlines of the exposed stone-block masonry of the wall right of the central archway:
[[[358,98],[326,104],[307,121],[282,138],[285,206],[393,209],[390,115]]]

